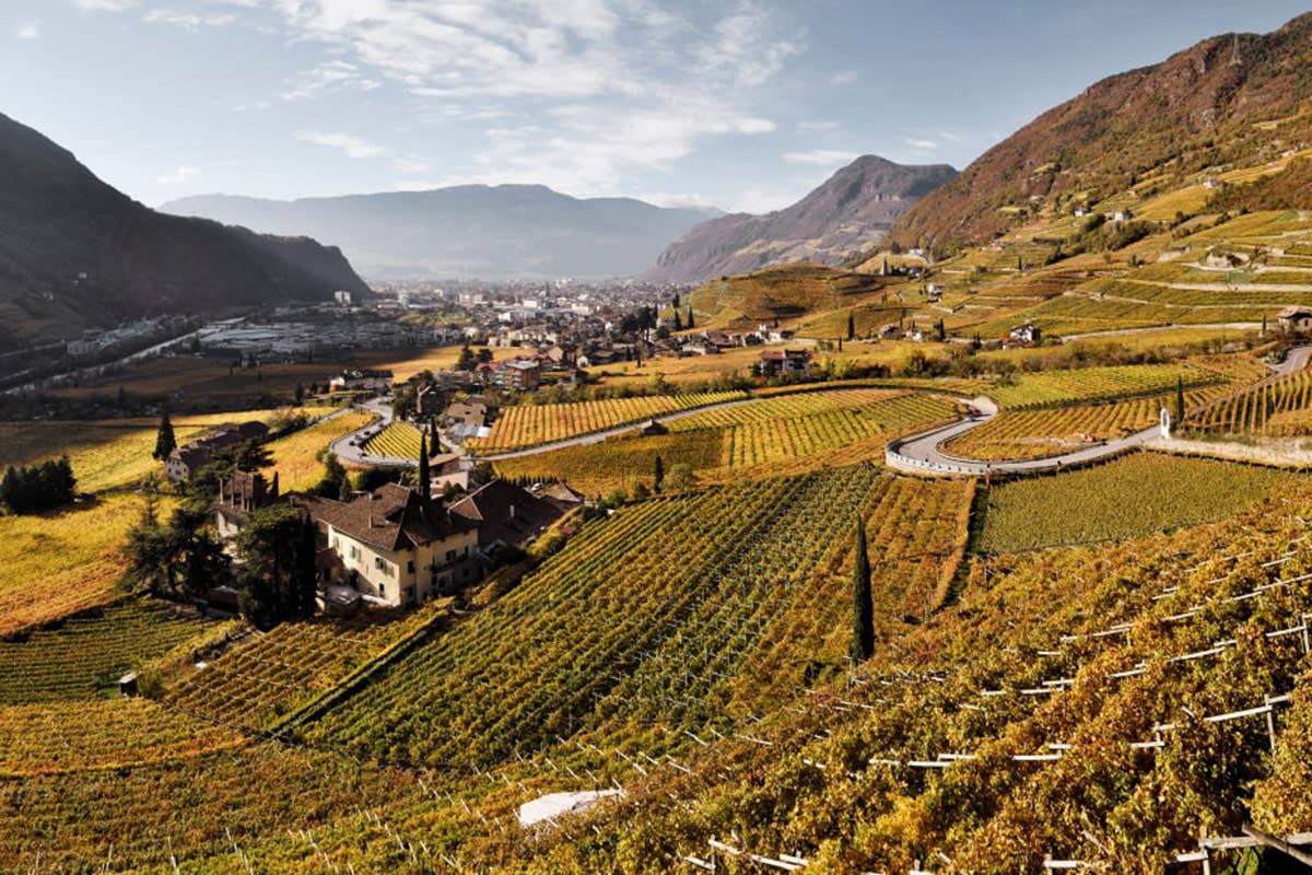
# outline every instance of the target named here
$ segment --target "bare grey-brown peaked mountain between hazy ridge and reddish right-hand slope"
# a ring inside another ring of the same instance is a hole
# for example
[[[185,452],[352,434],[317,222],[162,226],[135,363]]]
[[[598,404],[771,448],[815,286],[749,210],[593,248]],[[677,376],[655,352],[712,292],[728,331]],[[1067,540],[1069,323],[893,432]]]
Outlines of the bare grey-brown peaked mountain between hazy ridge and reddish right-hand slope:
[[[703,282],[786,261],[838,264],[955,176],[946,164],[907,167],[863,155],[787,209],[703,222],[665,249],[646,275]]]

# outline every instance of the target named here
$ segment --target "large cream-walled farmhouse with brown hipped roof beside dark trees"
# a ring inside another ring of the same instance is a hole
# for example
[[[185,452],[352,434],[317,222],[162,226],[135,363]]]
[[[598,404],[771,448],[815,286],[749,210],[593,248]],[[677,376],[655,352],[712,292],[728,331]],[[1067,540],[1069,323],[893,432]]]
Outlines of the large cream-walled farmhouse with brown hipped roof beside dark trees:
[[[345,585],[383,603],[421,605],[480,575],[479,526],[403,485],[388,483],[349,501],[295,496],[320,538],[325,585]]]

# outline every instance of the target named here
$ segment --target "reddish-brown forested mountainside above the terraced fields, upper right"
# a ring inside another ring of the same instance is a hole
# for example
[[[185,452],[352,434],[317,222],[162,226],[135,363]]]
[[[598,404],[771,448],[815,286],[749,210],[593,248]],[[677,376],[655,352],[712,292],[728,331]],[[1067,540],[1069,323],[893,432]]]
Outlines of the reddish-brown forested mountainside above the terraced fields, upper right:
[[[1166,188],[1312,139],[1312,13],[1270,34],[1212,37],[1105,79],[998,143],[896,223],[905,244],[954,248],[1044,203],[1092,203],[1152,180]]]

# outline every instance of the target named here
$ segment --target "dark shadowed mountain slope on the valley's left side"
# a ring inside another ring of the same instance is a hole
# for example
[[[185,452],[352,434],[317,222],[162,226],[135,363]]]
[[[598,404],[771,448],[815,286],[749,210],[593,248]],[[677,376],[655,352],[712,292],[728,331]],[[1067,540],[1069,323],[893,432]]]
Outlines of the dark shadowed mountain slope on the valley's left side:
[[[0,114],[0,349],[168,312],[369,294],[336,248],[160,215]]]

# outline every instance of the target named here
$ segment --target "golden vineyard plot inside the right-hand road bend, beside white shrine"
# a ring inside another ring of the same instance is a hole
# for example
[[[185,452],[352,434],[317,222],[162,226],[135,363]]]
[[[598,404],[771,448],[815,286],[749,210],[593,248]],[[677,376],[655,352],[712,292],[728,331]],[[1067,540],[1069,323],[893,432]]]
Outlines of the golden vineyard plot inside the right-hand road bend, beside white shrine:
[[[1228,392],[1227,386],[1185,392],[1185,409],[1194,411]],[[1002,411],[960,437],[943,451],[962,459],[1035,459],[1057,455],[1098,441],[1141,432],[1174,405],[1174,395],[1111,404]]]

